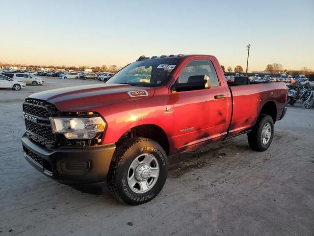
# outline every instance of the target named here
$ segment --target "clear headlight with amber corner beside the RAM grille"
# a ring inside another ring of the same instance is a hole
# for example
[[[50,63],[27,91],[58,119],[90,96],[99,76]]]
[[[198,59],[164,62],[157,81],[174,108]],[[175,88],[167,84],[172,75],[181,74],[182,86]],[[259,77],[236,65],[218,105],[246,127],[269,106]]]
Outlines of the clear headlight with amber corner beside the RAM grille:
[[[105,130],[105,121],[94,118],[50,118],[52,132],[67,139],[92,139]]]

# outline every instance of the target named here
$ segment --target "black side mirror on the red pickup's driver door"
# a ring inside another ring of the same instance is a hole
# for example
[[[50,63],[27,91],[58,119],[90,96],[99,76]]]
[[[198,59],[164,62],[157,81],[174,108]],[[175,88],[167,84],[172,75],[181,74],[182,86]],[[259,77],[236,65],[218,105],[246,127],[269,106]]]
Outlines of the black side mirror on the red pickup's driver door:
[[[172,89],[172,92],[183,92],[192,90],[201,90],[210,88],[210,78],[207,75],[194,75],[188,77],[187,83],[178,83]]]

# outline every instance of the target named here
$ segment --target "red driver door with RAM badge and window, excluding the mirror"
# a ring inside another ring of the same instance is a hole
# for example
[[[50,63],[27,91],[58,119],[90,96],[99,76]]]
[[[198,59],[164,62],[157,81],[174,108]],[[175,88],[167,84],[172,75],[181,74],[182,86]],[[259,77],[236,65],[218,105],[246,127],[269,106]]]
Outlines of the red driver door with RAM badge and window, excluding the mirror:
[[[210,60],[187,62],[176,84],[186,84],[195,76],[209,76],[210,88],[175,92],[170,97],[174,105],[175,150],[188,150],[207,141],[222,139],[229,126],[228,92],[220,85]]]

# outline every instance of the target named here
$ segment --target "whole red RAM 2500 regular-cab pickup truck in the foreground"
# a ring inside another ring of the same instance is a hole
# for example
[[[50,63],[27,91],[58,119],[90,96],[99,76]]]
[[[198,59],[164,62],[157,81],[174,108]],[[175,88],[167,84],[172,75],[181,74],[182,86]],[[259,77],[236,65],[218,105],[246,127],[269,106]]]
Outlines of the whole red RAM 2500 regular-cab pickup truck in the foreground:
[[[266,150],[286,100],[283,82],[228,84],[213,56],[141,56],[105,84],[27,97],[24,156],[56,181],[107,183],[115,198],[138,205],[162,189],[169,155],[240,134]]]

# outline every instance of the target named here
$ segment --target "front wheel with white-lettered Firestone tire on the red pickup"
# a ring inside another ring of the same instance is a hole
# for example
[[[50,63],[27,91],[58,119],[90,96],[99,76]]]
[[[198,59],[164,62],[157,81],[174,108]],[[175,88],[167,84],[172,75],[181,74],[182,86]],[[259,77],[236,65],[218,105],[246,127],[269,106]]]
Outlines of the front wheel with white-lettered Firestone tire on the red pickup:
[[[154,199],[167,179],[167,155],[150,139],[133,138],[118,145],[107,183],[123,203],[140,205]]]

